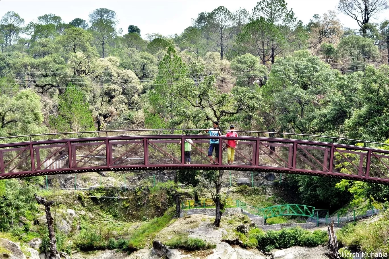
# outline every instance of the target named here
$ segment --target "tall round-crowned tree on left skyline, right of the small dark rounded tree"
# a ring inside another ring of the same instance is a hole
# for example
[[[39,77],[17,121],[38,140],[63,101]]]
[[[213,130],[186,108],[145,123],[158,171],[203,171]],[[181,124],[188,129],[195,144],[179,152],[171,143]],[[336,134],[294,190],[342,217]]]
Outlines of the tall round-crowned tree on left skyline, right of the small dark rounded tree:
[[[116,36],[116,12],[99,8],[89,14],[90,30],[96,38],[96,44],[102,47],[102,57],[107,55],[106,44]]]

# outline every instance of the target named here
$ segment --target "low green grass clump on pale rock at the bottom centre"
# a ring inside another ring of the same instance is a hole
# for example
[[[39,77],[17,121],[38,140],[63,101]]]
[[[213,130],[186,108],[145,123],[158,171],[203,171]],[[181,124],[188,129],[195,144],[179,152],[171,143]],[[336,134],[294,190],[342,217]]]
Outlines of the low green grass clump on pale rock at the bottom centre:
[[[187,236],[176,236],[166,243],[168,247],[184,249],[186,251],[208,250],[216,248],[214,243],[207,242],[200,238],[191,238]]]

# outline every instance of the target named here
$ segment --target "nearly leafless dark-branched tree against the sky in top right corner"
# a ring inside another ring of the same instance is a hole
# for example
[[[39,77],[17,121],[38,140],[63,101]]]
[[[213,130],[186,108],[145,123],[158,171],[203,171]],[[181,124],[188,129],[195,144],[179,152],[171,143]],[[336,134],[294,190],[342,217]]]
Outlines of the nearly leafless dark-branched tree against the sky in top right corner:
[[[375,14],[388,9],[383,0],[340,0],[338,10],[356,20],[362,36],[366,37],[368,24]]]

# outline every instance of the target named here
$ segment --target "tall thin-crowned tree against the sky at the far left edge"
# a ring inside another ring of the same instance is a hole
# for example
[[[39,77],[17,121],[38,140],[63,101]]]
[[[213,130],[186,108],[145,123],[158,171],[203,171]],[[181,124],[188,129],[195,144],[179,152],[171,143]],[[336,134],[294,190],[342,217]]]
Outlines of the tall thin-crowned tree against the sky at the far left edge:
[[[0,30],[4,37],[5,46],[11,46],[15,37],[17,37],[24,24],[22,19],[16,12],[7,12],[0,21]]]

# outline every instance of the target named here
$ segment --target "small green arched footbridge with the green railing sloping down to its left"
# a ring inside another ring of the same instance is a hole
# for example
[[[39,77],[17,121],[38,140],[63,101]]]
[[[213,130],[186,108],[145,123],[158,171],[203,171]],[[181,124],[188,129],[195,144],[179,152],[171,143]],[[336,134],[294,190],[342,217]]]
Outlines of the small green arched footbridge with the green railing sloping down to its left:
[[[259,209],[255,206],[237,200],[237,207],[240,207],[241,209],[244,209],[247,212],[251,212],[252,214],[261,216],[264,219],[278,216],[315,216],[315,207],[299,204],[276,205]]]

